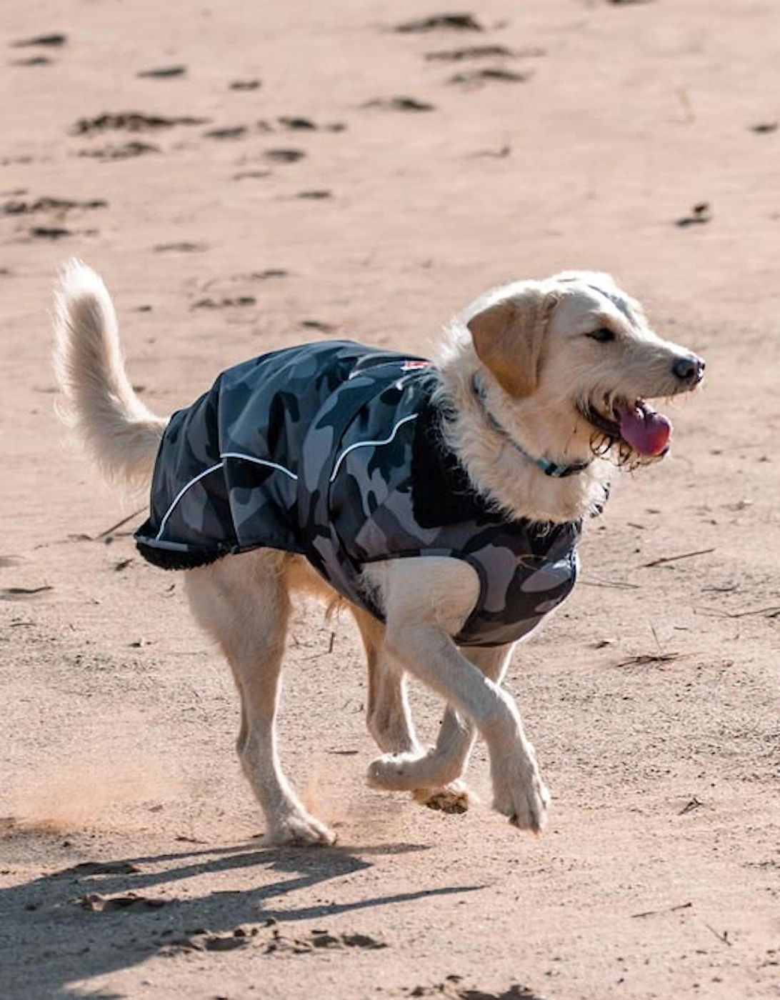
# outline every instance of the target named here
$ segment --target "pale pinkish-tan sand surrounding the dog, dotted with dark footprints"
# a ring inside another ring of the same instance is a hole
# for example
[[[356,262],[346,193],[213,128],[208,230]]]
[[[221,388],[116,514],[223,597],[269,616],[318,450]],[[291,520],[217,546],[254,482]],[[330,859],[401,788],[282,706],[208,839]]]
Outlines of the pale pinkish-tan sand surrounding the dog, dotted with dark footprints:
[[[776,4],[7,6],[0,996],[780,996]],[[55,417],[73,255],[160,412],[301,340],[425,353],[568,267],[707,358],[515,655],[544,836],[481,745],[464,816],[368,790],[356,632],[304,607],[281,749],[339,844],[262,847],[229,672]]]

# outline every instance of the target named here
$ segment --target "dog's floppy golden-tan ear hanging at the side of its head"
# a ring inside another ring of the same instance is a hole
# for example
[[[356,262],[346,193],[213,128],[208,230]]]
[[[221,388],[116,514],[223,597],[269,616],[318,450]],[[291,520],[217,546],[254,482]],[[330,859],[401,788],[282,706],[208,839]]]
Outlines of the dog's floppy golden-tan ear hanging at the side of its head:
[[[560,296],[530,286],[477,313],[467,323],[479,360],[513,396],[539,382],[542,344]]]

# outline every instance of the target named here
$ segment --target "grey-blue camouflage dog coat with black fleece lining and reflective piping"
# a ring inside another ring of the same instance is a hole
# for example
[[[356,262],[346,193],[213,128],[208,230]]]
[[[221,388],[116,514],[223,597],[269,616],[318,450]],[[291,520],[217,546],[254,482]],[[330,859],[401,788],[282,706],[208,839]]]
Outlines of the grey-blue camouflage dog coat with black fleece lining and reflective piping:
[[[436,381],[422,358],[348,341],[275,351],[223,372],[171,417],[139,551],[167,569],[260,547],[300,553],[380,620],[366,565],[462,559],[480,592],[455,641],[521,638],[574,586],[581,525],[492,509],[441,439]]]

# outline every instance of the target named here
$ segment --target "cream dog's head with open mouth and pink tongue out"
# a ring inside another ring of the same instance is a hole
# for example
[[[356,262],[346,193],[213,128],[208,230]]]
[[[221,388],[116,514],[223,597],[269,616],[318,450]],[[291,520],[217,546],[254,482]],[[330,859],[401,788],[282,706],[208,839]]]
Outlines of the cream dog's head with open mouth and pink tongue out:
[[[533,399],[569,444],[645,463],[671,423],[647,400],[689,392],[704,361],[650,328],[607,274],[567,271],[489,292],[467,314],[477,356],[514,400]]]

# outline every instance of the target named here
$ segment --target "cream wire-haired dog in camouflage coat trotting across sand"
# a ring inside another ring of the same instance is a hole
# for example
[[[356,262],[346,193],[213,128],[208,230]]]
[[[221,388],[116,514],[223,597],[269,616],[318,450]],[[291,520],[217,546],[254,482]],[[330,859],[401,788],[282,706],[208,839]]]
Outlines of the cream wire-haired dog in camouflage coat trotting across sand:
[[[501,687],[519,639],[570,592],[583,522],[617,467],[668,452],[649,399],[694,389],[704,361],[661,339],[602,272],[487,292],[434,362],[348,341],[253,359],[172,418],[128,381],[97,274],[73,261],[56,293],[65,417],[123,486],[151,488],[136,538],[184,572],[196,620],[230,664],[237,740],[271,844],[330,844],[279,763],[275,718],[290,595],[344,601],[368,665],[371,786],[468,806],[463,773],[485,740],[494,808],[540,832],[549,793]],[[446,702],[417,740],[405,674]]]

